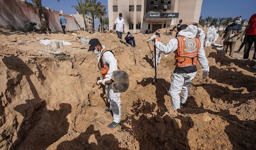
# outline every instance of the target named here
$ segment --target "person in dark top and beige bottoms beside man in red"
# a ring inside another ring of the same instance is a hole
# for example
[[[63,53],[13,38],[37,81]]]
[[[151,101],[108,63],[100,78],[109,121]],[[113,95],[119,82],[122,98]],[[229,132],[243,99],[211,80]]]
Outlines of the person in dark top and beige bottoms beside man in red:
[[[221,39],[221,44],[222,44],[222,41],[224,40],[223,50],[226,52],[226,54],[227,54],[228,46],[230,47],[230,56],[233,56],[237,37],[242,32],[242,25],[238,24],[239,19],[240,19],[239,17],[235,17],[235,19],[233,20],[233,23],[227,26],[227,28],[225,29],[224,31],[225,34]]]

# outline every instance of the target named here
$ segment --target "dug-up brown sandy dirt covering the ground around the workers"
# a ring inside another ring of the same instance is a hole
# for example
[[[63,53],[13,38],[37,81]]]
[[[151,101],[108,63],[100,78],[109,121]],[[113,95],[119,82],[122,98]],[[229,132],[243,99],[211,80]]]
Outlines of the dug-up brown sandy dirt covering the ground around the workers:
[[[128,72],[130,87],[121,94],[122,125],[107,128],[113,118],[105,112],[104,88],[96,85],[100,76],[97,58],[87,52],[87,45],[77,42],[76,36],[34,34],[30,39],[0,35],[0,149],[255,149],[254,61],[237,60],[223,51],[205,48],[209,78],[202,79],[198,70],[187,108],[176,114],[167,92],[175,69],[174,54],[163,57],[155,85],[151,53],[145,43],[148,35],[135,37],[135,66],[133,49],[120,43],[116,34],[76,34],[99,38],[113,50],[119,67]],[[15,38],[27,45],[9,42]],[[72,43],[62,49],[70,57],[38,53],[46,47],[38,41],[44,38]],[[170,38],[163,35],[161,40],[166,44]],[[76,73],[79,75],[71,75]]]

